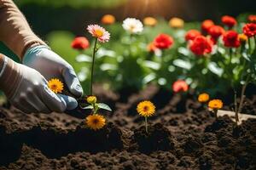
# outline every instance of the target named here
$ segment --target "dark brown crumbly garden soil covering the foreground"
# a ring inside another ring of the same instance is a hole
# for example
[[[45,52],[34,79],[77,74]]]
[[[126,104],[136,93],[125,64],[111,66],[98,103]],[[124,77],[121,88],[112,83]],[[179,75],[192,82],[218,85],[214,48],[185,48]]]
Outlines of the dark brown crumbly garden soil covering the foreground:
[[[0,107],[0,169],[256,169],[256,120],[235,127],[214,116],[192,94],[172,94],[154,85],[121,96],[96,88],[113,113],[100,131],[85,126],[82,110],[26,115]],[[136,112],[143,99],[157,112]],[[256,95],[246,113],[255,114]],[[226,104],[229,108],[231,104]]]

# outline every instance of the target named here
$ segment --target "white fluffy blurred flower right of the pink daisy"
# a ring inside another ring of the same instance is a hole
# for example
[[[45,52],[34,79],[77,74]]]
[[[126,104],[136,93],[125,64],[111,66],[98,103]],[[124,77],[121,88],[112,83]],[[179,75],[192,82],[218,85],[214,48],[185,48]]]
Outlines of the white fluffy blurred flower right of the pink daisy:
[[[123,21],[123,28],[132,34],[138,34],[143,31],[143,23],[134,18],[127,18]]]

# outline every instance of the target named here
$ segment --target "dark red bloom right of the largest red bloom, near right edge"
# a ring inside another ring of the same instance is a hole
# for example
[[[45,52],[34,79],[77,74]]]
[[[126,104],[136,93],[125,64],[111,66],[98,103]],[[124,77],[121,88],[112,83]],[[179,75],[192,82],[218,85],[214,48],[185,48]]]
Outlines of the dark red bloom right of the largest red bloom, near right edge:
[[[228,48],[238,48],[240,41],[236,31],[226,31],[223,36],[224,46]]]

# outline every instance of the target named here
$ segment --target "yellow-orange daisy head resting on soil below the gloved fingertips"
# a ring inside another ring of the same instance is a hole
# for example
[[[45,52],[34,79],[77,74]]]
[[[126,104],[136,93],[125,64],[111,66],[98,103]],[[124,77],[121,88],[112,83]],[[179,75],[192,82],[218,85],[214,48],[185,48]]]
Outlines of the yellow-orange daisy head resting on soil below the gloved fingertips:
[[[93,114],[86,117],[86,124],[90,129],[99,130],[106,124],[104,116]]]

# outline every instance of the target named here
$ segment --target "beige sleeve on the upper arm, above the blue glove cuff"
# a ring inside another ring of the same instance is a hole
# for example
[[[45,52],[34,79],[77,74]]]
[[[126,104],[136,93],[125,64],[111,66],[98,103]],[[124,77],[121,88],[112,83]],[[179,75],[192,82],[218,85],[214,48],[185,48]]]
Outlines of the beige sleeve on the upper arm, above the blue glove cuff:
[[[20,59],[32,44],[45,44],[37,37],[12,0],[0,0],[0,41]]]

